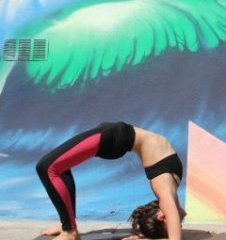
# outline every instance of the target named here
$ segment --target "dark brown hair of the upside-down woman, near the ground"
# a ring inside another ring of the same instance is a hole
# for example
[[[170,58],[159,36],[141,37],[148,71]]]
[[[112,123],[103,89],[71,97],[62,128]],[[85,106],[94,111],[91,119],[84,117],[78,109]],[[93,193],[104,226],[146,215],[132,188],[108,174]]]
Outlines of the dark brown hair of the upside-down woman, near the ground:
[[[152,239],[167,238],[164,222],[157,219],[159,210],[158,201],[152,201],[136,208],[129,217],[132,223],[132,233],[138,236],[142,234]]]

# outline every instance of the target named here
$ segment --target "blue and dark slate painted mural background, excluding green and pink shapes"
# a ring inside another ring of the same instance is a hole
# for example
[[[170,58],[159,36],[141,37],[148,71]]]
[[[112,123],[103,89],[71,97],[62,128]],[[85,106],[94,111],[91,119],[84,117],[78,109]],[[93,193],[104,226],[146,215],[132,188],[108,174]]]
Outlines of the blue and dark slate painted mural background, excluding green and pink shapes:
[[[71,2],[2,1],[1,39]],[[0,217],[57,218],[35,164],[64,140],[102,121],[122,120],[165,135],[186,173],[189,120],[226,140],[225,56],[223,41],[195,53],[169,49],[107,77],[99,75],[82,91],[74,85],[54,93],[30,81],[26,63],[13,63],[0,96]],[[117,161],[95,158],[73,172],[79,219],[125,220],[133,208],[154,198],[133,153]],[[179,193],[183,202],[184,180]]]

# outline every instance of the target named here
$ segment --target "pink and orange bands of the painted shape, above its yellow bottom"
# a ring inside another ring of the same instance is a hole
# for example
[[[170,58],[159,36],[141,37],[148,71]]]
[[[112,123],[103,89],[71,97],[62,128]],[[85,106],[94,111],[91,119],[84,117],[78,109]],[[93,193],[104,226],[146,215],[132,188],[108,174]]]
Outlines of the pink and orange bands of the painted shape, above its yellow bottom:
[[[226,216],[226,144],[189,122],[187,190]]]

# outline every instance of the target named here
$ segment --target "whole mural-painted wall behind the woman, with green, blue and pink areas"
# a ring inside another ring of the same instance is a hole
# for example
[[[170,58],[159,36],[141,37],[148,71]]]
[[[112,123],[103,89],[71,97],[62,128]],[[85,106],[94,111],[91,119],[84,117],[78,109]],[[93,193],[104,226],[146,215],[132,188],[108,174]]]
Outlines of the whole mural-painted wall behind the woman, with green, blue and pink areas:
[[[123,120],[173,143],[187,221],[226,222],[225,0],[3,0],[0,21],[1,218],[57,218],[36,162],[74,134]],[[43,59],[32,55],[38,39]],[[154,199],[133,153],[73,172],[79,219],[126,220]]]

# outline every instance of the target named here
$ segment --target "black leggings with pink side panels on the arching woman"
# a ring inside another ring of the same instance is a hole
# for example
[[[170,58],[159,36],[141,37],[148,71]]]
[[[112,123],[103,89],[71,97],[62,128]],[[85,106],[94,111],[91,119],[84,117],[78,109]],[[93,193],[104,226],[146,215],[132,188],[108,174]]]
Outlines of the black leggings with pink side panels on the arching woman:
[[[91,157],[117,159],[131,151],[133,126],[102,123],[64,142],[37,164],[37,173],[60,216],[63,230],[76,229],[75,183],[71,168]]]

